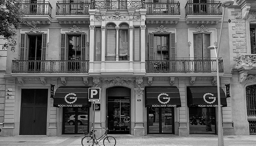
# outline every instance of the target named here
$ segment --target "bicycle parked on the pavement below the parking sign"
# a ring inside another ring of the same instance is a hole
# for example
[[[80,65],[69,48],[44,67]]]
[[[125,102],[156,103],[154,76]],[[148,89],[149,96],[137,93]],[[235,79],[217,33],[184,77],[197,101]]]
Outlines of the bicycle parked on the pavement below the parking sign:
[[[116,138],[113,136],[108,136],[107,133],[109,132],[108,128],[104,128],[105,133],[101,135],[100,138],[96,138],[95,136],[95,131],[91,131],[90,133],[84,133],[85,136],[83,136],[81,143],[82,146],[92,146],[94,143],[94,146],[99,146],[99,142],[103,139],[103,145],[104,146],[116,146]],[[94,139],[93,139],[93,134],[94,134]]]

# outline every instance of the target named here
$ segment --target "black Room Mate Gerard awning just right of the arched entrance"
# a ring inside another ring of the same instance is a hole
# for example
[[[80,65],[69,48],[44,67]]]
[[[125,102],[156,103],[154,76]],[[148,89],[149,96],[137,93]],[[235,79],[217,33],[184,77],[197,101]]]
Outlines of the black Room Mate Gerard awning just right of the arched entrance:
[[[181,107],[177,87],[145,87],[146,106]]]

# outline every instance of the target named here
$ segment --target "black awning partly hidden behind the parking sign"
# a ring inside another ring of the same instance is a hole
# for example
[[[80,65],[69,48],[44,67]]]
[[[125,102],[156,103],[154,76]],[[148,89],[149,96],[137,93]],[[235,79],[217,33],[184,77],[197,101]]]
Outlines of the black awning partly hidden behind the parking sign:
[[[59,87],[53,99],[54,107],[91,106],[88,102],[88,87]]]

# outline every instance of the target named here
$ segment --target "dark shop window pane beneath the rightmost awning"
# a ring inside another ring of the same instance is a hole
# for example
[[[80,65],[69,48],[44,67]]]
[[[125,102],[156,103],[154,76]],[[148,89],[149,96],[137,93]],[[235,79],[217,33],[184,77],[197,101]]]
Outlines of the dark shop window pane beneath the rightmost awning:
[[[189,108],[190,134],[216,134],[215,108]]]

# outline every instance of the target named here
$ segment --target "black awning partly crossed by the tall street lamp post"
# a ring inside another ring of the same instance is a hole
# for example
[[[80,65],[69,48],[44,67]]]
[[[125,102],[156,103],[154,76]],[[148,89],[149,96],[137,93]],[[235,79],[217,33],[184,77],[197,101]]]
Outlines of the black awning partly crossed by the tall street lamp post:
[[[217,107],[218,94],[216,86],[209,87],[187,87],[188,107]],[[220,103],[222,107],[227,106],[227,99],[224,91],[220,88]]]

